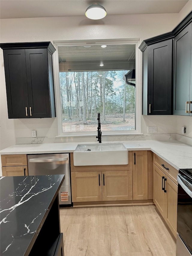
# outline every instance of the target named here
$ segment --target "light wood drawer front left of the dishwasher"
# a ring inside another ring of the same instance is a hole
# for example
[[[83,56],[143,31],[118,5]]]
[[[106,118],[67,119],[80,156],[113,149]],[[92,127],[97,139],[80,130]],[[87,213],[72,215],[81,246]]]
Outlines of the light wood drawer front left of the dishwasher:
[[[27,155],[1,155],[2,166],[27,165]]]

